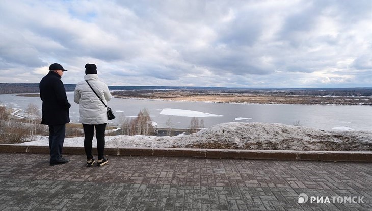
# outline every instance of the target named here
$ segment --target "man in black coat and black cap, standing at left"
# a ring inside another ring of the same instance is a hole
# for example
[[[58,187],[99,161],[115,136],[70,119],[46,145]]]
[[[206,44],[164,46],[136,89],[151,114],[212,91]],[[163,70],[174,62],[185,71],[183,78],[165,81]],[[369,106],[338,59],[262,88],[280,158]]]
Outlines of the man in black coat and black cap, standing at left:
[[[69,159],[62,157],[62,147],[65,140],[66,123],[70,122],[65,86],[61,81],[62,65],[54,63],[49,66],[49,73],[40,81],[40,98],[42,104],[41,124],[49,126],[50,165],[64,164]]]

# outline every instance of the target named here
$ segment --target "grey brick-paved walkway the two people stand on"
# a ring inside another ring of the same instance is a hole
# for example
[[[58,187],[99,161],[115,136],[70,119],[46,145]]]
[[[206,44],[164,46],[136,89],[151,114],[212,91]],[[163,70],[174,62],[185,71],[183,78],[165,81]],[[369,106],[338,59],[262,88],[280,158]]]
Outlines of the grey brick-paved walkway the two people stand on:
[[[372,210],[372,163],[65,156],[0,153],[0,210]]]

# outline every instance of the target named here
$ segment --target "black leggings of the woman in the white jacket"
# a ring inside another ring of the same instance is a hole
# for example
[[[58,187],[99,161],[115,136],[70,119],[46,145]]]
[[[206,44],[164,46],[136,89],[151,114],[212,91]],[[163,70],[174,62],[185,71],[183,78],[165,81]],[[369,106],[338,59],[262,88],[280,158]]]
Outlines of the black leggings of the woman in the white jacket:
[[[104,131],[106,124],[83,124],[84,128],[84,149],[87,160],[92,159],[92,140],[94,136],[94,127],[96,128],[98,159],[104,157]]]

